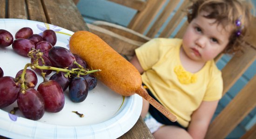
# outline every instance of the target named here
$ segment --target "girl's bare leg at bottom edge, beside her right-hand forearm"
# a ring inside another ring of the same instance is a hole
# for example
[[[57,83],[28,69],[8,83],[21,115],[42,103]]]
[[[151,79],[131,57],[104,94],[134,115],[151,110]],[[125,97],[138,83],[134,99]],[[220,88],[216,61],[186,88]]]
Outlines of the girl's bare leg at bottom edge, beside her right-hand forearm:
[[[192,139],[185,129],[178,126],[162,126],[153,136],[155,139]]]

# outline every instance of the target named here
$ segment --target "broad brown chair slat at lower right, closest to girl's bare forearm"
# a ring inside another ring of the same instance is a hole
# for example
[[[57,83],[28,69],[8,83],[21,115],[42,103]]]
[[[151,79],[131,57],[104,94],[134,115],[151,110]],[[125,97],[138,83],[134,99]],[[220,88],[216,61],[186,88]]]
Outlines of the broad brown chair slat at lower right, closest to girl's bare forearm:
[[[224,139],[256,107],[256,76],[212,121],[206,139]]]

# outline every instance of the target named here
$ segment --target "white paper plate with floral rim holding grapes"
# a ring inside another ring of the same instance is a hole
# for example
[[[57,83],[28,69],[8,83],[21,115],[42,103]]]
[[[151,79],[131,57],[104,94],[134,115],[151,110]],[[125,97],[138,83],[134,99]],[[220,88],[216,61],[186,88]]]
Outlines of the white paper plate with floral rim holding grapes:
[[[34,34],[52,29],[57,34],[55,46],[69,48],[70,36],[74,33],[64,28],[42,22],[24,19],[0,19],[0,29],[15,33],[22,27],[30,27]],[[15,39],[15,38],[14,38]],[[0,48],[0,67],[4,76],[15,77],[20,69],[29,63],[28,57],[15,53],[12,46]],[[53,75],[52,73],[51,75]],[[51,76],[47,76],[47,79]],[[38,75],[38,84],[43,79]],[[36,86],[36,88],[37,88]],[[85,101],[74,103],[69,100],[66,90],[65,106],[59,113],[48,113],[37,121],[28,120],[20,113],[8,112],[17,107],[17,103],[0,109],[0,135],[17,139],[115,139],[126,133],[138,120],[142,99],[139,95],[123,97],[110,90],[100,81],[96,88],[88,92]],[[84,114],[80,118],[72,111]]]

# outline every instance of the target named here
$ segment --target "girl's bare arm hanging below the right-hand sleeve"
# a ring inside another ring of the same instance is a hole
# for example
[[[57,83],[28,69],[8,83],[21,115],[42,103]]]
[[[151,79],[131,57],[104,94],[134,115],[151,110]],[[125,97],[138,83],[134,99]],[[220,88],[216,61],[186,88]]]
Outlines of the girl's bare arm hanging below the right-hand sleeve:
[[[192,114],[188,132],[193,139],[204,139],[217,105],[218,101],[202,101],[198,109]]]

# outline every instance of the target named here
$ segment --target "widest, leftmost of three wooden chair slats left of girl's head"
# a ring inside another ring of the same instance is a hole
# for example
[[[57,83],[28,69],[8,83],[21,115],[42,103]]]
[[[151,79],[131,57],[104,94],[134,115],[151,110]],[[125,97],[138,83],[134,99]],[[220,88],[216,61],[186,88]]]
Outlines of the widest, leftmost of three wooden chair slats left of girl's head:
[[[147,6],[142,11],[138,11],[135,14],[128,28],[143,34],[162,8],[165,1],[166,0],[148,0]]]

